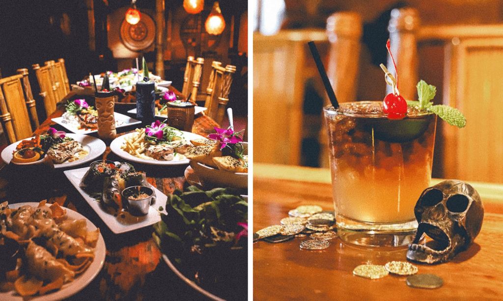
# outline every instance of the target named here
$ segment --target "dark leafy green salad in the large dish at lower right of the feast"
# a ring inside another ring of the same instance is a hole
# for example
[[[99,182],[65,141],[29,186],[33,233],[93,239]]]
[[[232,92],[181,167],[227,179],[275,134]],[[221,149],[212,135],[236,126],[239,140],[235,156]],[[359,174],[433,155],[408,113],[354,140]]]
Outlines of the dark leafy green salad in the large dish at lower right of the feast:
[[[243,230],[239,223],[248,220],[248,203],[238,190],[202,191],[195,186],[187,190],[176,190],[167,198],[167,215],[161,214],[152,234],[159,248],[181,263],[208,249],[235,246],[239,242],[235,236]]]

